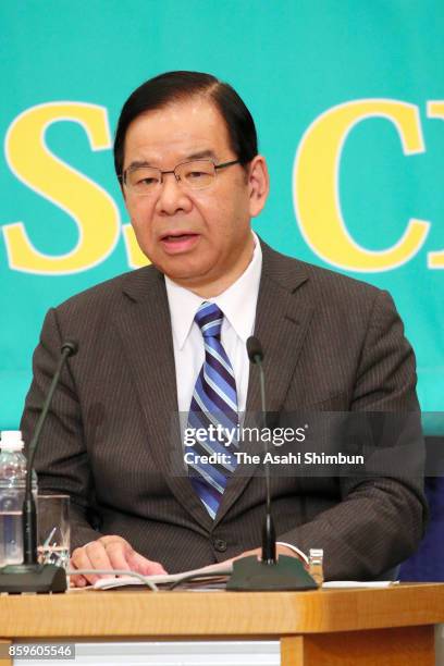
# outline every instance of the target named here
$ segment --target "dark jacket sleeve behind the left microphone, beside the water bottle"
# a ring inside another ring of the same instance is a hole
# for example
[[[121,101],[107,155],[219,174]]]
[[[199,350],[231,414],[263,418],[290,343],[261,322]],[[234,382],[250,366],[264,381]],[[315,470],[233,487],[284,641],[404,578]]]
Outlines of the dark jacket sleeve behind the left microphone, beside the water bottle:
[[[30,441],[41,405],[48,394],[62,342],[57,312],[51,309],[45,319],[40,343],[33,357],[34,378],[21,422],[25,442]],[[39,492],[70,495],[72,550],[98,539],[100,534],[87,519],[92,501],[91,472],[83,437],[81,405],[70,371],[70,361],[62,371],[40,444],[35,458],[38,489]]]

